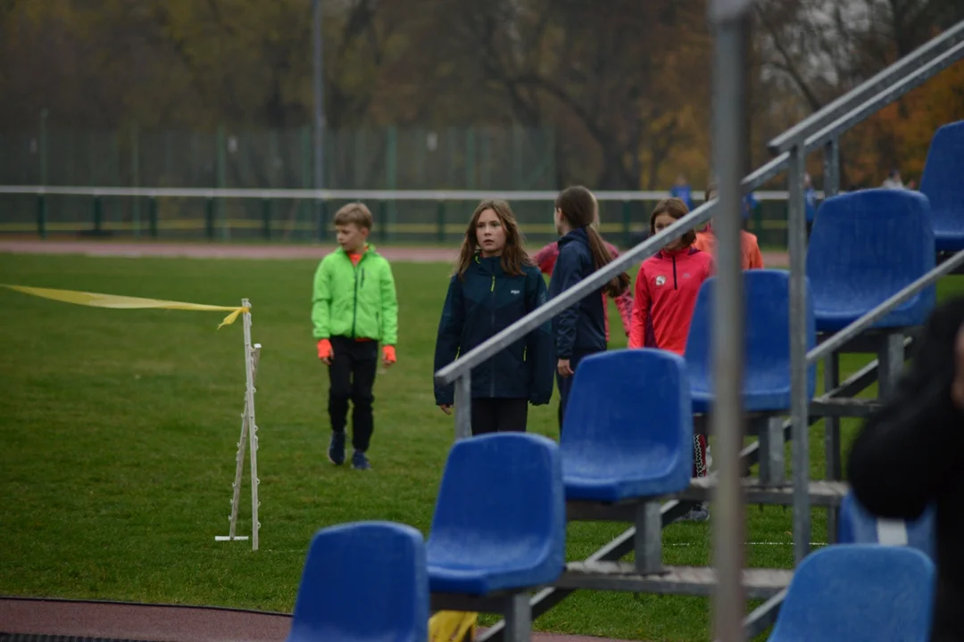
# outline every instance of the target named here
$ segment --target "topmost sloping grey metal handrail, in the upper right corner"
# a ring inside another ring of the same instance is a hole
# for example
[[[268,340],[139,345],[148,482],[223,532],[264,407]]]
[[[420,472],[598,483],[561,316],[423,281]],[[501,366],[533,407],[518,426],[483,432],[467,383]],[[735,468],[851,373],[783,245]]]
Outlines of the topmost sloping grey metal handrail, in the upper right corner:
[[[864,81],[836,100],[824,105],[811,116],[807,116],[796,123],[783,134],[766,143],[767,149],[773,154],[785,152],[793,146],[793,142],[801,137],[809,137],[830,119],[837,119],[853,109],[853,106],[864,100],[867,95],[876,95],[886,89],[896,80],[912,74],[918,65],[923,65],[941,54],[947,47],[964,40],[964,20],[948,29],[940,36],[927,41],[896,63],[889,65],[870,79]]]

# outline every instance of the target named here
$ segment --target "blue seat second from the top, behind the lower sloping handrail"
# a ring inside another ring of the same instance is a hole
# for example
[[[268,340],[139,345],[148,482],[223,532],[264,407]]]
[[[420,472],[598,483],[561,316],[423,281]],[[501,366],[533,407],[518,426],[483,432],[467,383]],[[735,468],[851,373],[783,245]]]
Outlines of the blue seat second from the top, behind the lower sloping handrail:
[[[820,206],[807,248],[817,332],[857,321],[934,268],[930,207],[910,190],[863,190]],[[924,323],[937,300],[931,286],[873,327]]]

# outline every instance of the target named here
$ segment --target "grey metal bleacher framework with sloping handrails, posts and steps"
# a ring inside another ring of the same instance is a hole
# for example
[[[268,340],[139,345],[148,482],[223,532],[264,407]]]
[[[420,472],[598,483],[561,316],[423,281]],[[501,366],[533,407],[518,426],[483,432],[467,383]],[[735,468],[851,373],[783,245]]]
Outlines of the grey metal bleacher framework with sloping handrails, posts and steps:
[[[740,48],[735,40],[745,29],[748,9],[746,3],[719,1],[714,5],[715,12],[715,40],[716,51],[714,56],[714,76],[729,77],[730,80],[740,80],[738,73],[734,69],[740,61]],[[897,61],[870,78],[859,87],[848,91],[843,96],[826,105],[814,115],[809,116],[791,127],[787,132],[778,136],[768,143],[769,150],[775,157],[763,167],[753,171],[739,182],[739,190],[748,193],[761,188],[765,183],[781,174],[789,171],[790,185],[790,215],[789,215],[789,236],[790,236],[790,355],[791,355],[791,408],[790,419],[782,424],[782,435],[784,439],[791,440],[792,449],[792,485],[763,484],[759,480],[743,483],[743,501],[750,503],[777,503],[792,505],[793,520],[793,553],[794,562],[799,564],[810,549],[811,541],[811,507],[823,505],[835,510],[842,501],[846,493],[846,484],[839,481],[841,476],[840,465],[840,425],[841,417],[860,417],[865,416],[868,411],[868,400],[855,400],[856,396],[868,389],[873,383],[879,381],[881,388],[886,391],[893,386],[897,374],[900,372],[906,350],[914,343],[914,333],[892,334],[890,338],[883,339],[883,346],[880,340],[876,345],[867,346],[868,341],[873,341],[873,337],[866,333],[870,325],[885,317],[891,310],[903,303],[911,296],[917,294],[927,286],[935,283],[941,276],[953,273],[964,266],[964,251],[957,252],[946,258],[934,270],[923,274],[919,279],[905,287],[900,292],[895,293],[887,300],[880,303],[867,315],[854,321],[843,330],[825,337],[824,340],[811,349],[809,352],[806,347],[804,334],[804,305],[805,305],[805,266],[807,235],[805,221],[805,202],[803,192],[803,174],[807,155],[811,152],[822,150],[824,160],[824,193],[826,197],[831,197],[840,192],[840,167],[839,167],[839,139],[842,134],[847,132],[856,124],[862,122],[869,116],[878,112],[883,107],[893,103],[899,97],[910,90],[922,85],[927,79],[947,68],[951,64],[964,59],[964,21],[954,25],[951,29],[935,39],[925,43],[922,47],[912,52],[905,58]],[[734,75],[736,74],[736,75]],[[736,83],[738,85],[738,82]],[[728,183],[728,173],[733,173],[725,164],[720,164],[721,160],[730,160],[739,150],[743,141],[735,140],[733,134],[720,132],[725,129],[719,125],[734,124],[734,119],[727,119],[728,116],[738,114],[742,105],[740,98],[733,95],[733,91],[728,90],[725,83],[718,82],[714,78],[714,148],[715,153],[719,154],[714,158],[714,165],[720,167],[720,198],[724,199],[723,207],[725,214],[729,214],[731,209],[736,214],[738,195],[736,189],[731,193]],[[738,124],[735,127],[738,131]],[[738,138],[738,136],[736,137]],[[720,152],[719,148],[729,146],[730,151]],[[734,167],[738,167],[739,157],[733,158]],[[734,170],[735,171],[735,170]],[[733,180],[736,188],[736,179]],[[628,270],[630,266],[656,254],[656,251],[664,244],[680,238],[683,234],[694,227],[707,222],[712,216],[714,209],[719,202],[714,199],[708,203],[697,207],[689,215],[680,219],[669,228],[659,232],[655,236],[647,239],[641,244],[629,249],[619,258],[614,260],[602,270],[598,270],[591,276],[584,279],[576,287],[566,291],[562,295],[550,300],[546,305],[532,312],[524,319],[513,323],[508,328],[500,331],[495,336],[484,342],[478,347],[469,350],[461,355],[456,361],[449,364],[439,372],[436,372],[436,380],[440,383],[455,383],[456,403],[455,403],[455,438],[464,439],[471,434],[469,398],[470,398],[470,373],[472,368],[489,359],[495,352],[502,347],[517,341],[524,334],[535,329],[538,325],[549,321],[561,311],[576,304],[578,300],[586,295],[590,295],[603,286],[616,274]],[[737,220],[736,216],[733,217]],[[725,281],[723,274],[724,261],[732,263],[736,257],[736,234],[731,234],[737,228],[729,232],[724,232],[723,227],[729,225],[726,221],[717,226],[719,230],[719,262],[720,266],[720,299],[725,300],[725,293],[739,293],[738,276],[726,277],[733,278],[733,281]],[[738,224],[735,222],[735,225]],[[727,234],[727,238],[723,238]],[[728,247],[725,241],[733,241],[733,247]],[[726,258],[724,258],[726,257]],[[724,289],[726,286],[726,290]],[[741,327],[741,313],[735,312],[735,305],[722,304],[721,308],[730,308],[716,312],[716,319],[736,320],[737,328]],[[730,316],[727,316],[730,315]],[[734,316],[736,315],[736,316]],[[736,333],[736,331],[735,331]],[[736,345],[738,335],[734,335]],[[860,344],[864,344],[861,346]],[[720,348],[717,347],[717,350]],[[726,348],[723,348],[726,349]],[[869,365],[854,373],[844,381],[840,381],[838,356],[842,351],[860,350],[872,351],[879,354],[878,359],[871,361]],[[720,352],[717,351],[717,357]],[[734,357],[726,354],[727,357]],[[806,372],[810,365],[817,364],[821,359],[826,362],[825,390],[823,395],[809,399],[806,390]],[[736,356],[737,368],[742,368],[741,356]],[[714,425],[720,425],[721,421],[732,421],[733,424],[741,417],[739,391],[731,390],[732,386],[727,385],[727,396],[724,397],[722,387],[717,388],[716,412],[726,414],[724,420],[714,420]],[[736,399],[736,401],[734,400]],[[828,479],[812,481],[810,475],[810,452],[808,432],[811,424],[817,423],[820,419],[826,419],[827,437],[825,440],[827,452]],[[736,426],[738,427],[738,426]],[[730,428],[728,427],[728,430]],[[738,435],[736,431],[734,434]],[[771,437],[777,436],[781,431],[773,430]],[[720,439],[720,435],[717,435]],[[782,444],[781,444],[782,446]],[[769,449],[770,452],[774,448]],[[783,452],[780,449],[780,457]],[[716,482],[719,480],[718,499],[723,501],[731,500],[727,494],[734,490],[733,475],[739,472],[746,473],[750,466],[759,463],[761,460],[761,443],[753,443],[747,448],[741,449],[738,456],[738,468],[736,470],[725,471],[729,477],[724,478],[724,466],[729,462],[721,457],[723,461],[720,466],[720,474],[711,474],[708,481],[699,482],[683,494],[669,501],[665,501],[659,506],[659,519],[662,526],[671,524],[681,517],[695,501],[705,499],[707,494],[714,490]],[[736,463],[736,462],[734,462]],[[772,462],[771,462],[772,463]],[[736,466],[731,467],[733,469]],[[724,488],[724,483],[726,487]],[[736,489],[739,489],[737,482]],[[732,508],[732,504],[723,506]],[[723,515],[719,520],[725,522],[726,518],[734,516],[740,517],[738,505],[734,510],[728,512],[724,510],[717,512]],[[626,515],[626,520],[634,522],[634,515]],[[638,519],[638,518],[635,518]],[[638,522],[637,522],[638,523]],[[714,530],[725,530],[729,526],[714,526]],[[742,526],[736,526],[741,528]],[[836,527],[836,526],[834,526]],[[738,529],[736,532],[741,532]],[[670,570],[660,575],[643,575],[636,572],[631,564],[620,563],[619,560],[633,551],[637,539],[644,540],[645,537],[637,538],[635,527],[629,527],[625,532],[614,540],[603,546],[600,550],[590,555],[582,562],[574,562],[567,565],[567,570],[562,576],[553,583],[552,586],[543,588],[533,595],[530,599],[532,618],[545,613],[555,604],[560,603],[567,596],[579,589],[595,590],[616,590],[629,591],[634,593],[673,593],[681,595],[709,596],[714,595],[717,599],[717,611],[723,608],[723,600],[728,592],[734,593],[738,604],[743,606],[739,615],[734,613],[717,613],[717,627],[727,629],[727,618],[742,616],[745,611],[745,603],[742,602],[743,595],[750,597],[768,598],[758,608],[743,617],[741,627],[742,635],[752,636],[762,632],[773,624],[785,595],[786,586],[790,577],[790,572],[786,570],[769,569],[747,569],[749,573],[742,576],[732,573],[729,568],[731,562],[721,559],[717,555],[717,573],[712,568]],[[724,536],[716,535],[714,542],[718,548],[723,548],[722,543],[727,546],[735,544],[731,540],[726,540]],[[742,546],[742,541],[738,542]],[[737,560],[743,558],[740,551],[736,551]],[[728,565],[723,568],[723,565]],[[772,572],[767,574],[767,572]],[[719,591],[715,588],[719,586]],[[729,600],[726,605],[734,602]],[[722,623],[722,625],[720,625]],[[739,624],[736,620],[737,625]],[[732,631],[732,629],[729,629]],[[494,627],[488,629],[478,639],[479,640],[501,640],[505,636],[504,621],[498,622]],[[512,636],[511,633],[509,633]],[[514,636],[513,636],[514,637]],[[727,639],[736,639],[736,636],[727,635]]]

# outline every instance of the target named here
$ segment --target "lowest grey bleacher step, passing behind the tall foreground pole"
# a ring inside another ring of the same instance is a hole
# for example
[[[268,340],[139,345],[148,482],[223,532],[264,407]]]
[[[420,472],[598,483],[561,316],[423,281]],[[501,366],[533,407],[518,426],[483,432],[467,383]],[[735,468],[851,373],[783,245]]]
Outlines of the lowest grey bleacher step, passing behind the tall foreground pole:
[[[793,572],[786,569],[744,569],[743,585],[753,600],[772,598],[790,585]],[[596,591],[625,591],[659,595],[709,597],[716,572],[705,566],[666,566],[663,572],[639,575],[632,562],[570,562],[554,586]]]

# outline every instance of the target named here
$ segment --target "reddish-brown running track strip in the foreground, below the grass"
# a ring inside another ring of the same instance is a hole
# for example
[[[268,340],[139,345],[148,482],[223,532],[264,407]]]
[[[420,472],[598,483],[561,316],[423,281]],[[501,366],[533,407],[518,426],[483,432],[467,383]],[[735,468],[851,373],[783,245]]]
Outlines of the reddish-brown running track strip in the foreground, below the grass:
[[[0,598],[0,637],[64,635],[157,642],[284,642],[291,616],[206,606]],[[619,642],[533,633],[533,642]]]

